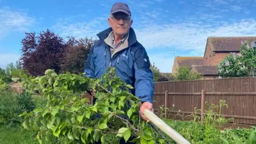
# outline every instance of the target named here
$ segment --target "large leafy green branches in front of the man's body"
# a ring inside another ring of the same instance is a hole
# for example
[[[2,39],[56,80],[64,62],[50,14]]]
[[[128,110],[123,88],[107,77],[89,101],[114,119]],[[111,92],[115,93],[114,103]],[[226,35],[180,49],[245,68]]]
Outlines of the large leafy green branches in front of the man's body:
[[[24,117],[23,127],[38,131],[38,141],[48,135],[66,137],[71,143],[93,143],[108,141],[110,135],[116,133],[116,137],[123,137],[126,142],[132,135],[138,135],[135,141],[143,138],[150,142],[149,136],[140,135],[143,132],[137,110],[139,99],[127,91],[133,87],[117,77],[113,69],[110,71],[101,79],[56,74],[52,69],[46,70],[42,77],[21,78],[27,91],[45,99],[44,105],[29,114],[25,111],[19,115]],[[86,91],[94,89],[97,100],[91,105],[90,100],[83,96]],[[133,124],[124,117],[132,118]]]

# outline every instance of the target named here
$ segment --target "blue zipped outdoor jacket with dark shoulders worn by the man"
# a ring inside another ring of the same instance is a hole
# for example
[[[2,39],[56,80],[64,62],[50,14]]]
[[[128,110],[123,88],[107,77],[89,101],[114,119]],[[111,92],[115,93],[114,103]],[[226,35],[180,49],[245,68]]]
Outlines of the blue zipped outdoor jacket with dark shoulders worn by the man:
[[[86,76],[101,78],[109,66],[115,67],[117,76],[135,88],[131,91],[133,95],[140,98],[141,102],[153,103],[153,73],[145,48],[137,41],[134,30],[130,28],[129,47],[115,53],[111,59],[110,47],[104,41],[111,31],[108,28],[97,34],[99,40],[94,43],[85,63]]]

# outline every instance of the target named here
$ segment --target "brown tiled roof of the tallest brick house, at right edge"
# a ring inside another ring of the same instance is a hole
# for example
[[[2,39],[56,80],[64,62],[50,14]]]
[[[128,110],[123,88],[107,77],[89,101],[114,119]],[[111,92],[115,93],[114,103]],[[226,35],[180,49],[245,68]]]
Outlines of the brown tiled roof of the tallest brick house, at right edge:
[[[256,37],[208,37],[207,43],[209,43],[212,51],[240,51],[242,42],[248,41],[249,44],[255,41]]]

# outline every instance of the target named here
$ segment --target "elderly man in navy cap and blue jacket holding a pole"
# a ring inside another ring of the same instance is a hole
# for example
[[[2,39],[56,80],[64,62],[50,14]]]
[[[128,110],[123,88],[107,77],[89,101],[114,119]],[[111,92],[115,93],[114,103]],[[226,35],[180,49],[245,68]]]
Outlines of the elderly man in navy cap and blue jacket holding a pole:
[[[99,40],[92,47],[84,71],[94,78],[101,77],[108,67],[115,67],[116,74],[135,88],[132,93],[142,103],[140,116],[149,122],[142,112],[153,110],[153,73],[147,52],[131,28],[132,22],[127,4],[115,3],[111,7],[108,18],[110,28],[97,34]]]

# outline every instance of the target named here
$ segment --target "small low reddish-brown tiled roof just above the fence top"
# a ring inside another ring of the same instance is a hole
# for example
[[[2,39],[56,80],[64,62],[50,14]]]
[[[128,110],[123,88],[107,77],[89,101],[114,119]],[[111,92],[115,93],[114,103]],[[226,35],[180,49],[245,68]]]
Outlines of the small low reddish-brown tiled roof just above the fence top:
[[[191,69],[196,70],[198,73],[202,75],[211,75],[211,76],[217,76],[218,75],[218,69],[216,66],[206,66],[206,65],[192,65]]]

